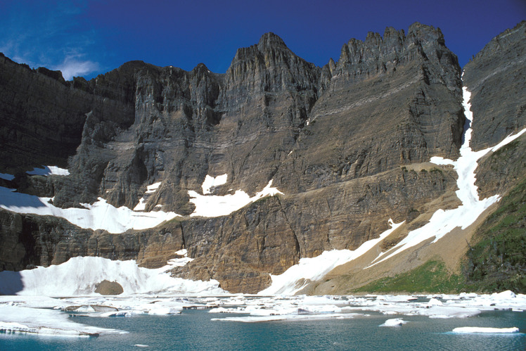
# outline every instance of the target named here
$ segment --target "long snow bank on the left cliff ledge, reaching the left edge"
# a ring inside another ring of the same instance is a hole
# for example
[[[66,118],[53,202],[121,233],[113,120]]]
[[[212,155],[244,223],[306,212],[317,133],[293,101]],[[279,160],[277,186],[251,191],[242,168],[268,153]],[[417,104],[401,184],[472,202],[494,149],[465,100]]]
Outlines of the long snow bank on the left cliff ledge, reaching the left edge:
[[[84,229],[105,229],[123,233],[128,229],[148,229],[177,217],[175,212],[135,212],[127,207],[115,208],[103,198],[96,203],[81,204],[84,208],[57,208],[49,203],[52,198],[17,193],[0,186],[0,208],[17,213],[61,217]]]

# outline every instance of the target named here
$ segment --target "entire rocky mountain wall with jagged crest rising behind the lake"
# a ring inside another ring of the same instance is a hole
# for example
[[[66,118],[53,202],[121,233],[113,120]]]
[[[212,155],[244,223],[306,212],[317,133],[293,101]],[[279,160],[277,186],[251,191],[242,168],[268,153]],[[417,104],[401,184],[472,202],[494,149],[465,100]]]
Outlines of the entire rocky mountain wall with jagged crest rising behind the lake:
[[[475,149],[526,125],[525,28],[522,22],[499,35],[466,65]],[[458,158],[461,74],[440,29],[420,23],[351,39],[338,62],[323,68],[272,33],[238,49],[224,74],[203,64],[186,72],[132,61],[65,82],[58,71],[0,56],[0,172],[15,174],[0,186],[53,198],[58,208],[100,197],[134,209],[147,186],[160,182],[145,210],[162,205],[182,215],[109,234],[0,210],[0,269],[77,255],[160,267],[186,248],[195,260],[173,274],[256,293],[269,274],[301,257],[378,238],[390,218],[421,226],[426,212],[458,205],[456,172],[428,161]],[[480,163],[484,196],[525,177],[522,153],[509,152],[513,162],[489,156]],[[70,175],[25,173],[41,165]],[[227,174],[213,195],[241,189],[252,196],[269,181],[283,194],[222,217],[189,217],[188,191],[202,193],[207,174]],[[383,245],[396,244],[390,240]]]

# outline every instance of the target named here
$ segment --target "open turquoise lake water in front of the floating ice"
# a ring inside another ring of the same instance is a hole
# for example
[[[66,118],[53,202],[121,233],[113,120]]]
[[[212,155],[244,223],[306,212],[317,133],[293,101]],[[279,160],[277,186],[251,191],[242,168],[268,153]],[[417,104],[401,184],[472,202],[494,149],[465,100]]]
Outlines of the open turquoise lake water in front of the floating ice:
[[[75,317],[83,324],[129,333],[98,338],[0,333],[0,350],[526,350],[526,312],[483,312],[466,319],[402,316],[408,323],[399,327],[380,327],[394,318],[381,314],[258,323],[210,320],[218,317],[226,315],[185,310],[172,316]],[[516,326],[520,333],[451,333],[460,326]]]

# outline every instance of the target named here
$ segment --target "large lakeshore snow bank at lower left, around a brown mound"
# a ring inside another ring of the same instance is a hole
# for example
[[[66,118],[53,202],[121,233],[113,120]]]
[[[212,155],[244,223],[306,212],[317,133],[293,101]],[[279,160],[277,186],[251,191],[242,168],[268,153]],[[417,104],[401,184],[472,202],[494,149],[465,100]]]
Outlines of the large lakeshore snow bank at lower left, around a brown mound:
[[[21,272],[0,272],[0,294],[75,296],[94,295],[103,280],[116,281],[123,295],[137,293],[222,294],[219,282],[172,278],[165,269],[138,267],[133,260],[73,257],[68,262]],[[11,291],[20,286],[20,291]],[[97,294],[98,295],[98,294]]]

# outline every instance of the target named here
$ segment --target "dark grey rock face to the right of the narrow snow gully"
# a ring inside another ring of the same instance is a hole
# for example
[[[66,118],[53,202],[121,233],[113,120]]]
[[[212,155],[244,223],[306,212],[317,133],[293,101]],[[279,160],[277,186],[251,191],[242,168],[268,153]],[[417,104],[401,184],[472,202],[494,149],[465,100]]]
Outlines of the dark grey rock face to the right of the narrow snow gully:
[[[526,126],[526,21],[492,39],[464,68],[480,150]]]

